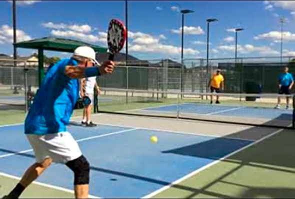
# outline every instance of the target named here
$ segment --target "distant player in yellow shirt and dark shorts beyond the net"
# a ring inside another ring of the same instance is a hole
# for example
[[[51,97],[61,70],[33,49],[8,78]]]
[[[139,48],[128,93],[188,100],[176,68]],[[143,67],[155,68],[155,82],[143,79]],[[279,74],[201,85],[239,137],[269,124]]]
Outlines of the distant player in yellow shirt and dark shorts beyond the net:
[[[214,73],[209,81],[208,87],[210,87],[211,92],[219,93],[220,90],[223,90],[224,88],[224,78],[221,74],[220,69],[216,70],[216,73]],[[212,95],[210,96],[210,103],[212,103]],[[219,102],[219,96],[216,96],[216,103]]]

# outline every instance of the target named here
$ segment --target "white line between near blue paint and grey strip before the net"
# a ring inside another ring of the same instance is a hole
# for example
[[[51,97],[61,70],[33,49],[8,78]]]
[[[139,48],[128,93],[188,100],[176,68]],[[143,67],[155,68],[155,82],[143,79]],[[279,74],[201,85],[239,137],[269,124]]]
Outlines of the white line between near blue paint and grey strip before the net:
[[[72,120],[76,121],[76,120]],[[200,136],[208,136],[208,137],[223,137],[226,139],[237,139],[237,140],[244,140],[244,141],[256,141],[255,139],[243,139],[243,138],[236,138],[236,137],[227,137],[226,135],[212,135],[212,134],[201,134],[201,133],[194,133],[194,132],[182,132],[182,131],[175,131],[175,130],[163,130],[158,128],[148,128],[148,127],[134,127],[128,125],[117,125],[117,124],[108,124],[108,123],[97,123],[100,125],[107,125],[107,126],[119,126],[119,127],[126,127],[126,128],[136,128],[136,129],[145,129],[145,130],[155,130],[155,131],[162,131],[168,133],[179,133],[179,134],[189,134],[189,135],[200,135]]]

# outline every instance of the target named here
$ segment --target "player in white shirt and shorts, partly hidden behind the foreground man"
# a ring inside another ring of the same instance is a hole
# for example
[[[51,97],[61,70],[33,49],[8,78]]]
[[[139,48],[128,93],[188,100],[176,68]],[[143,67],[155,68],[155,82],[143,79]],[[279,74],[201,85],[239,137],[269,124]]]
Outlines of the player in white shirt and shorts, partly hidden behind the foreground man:
[[[83,118],[82,118],[82,125],[86,126],[96,126],[95,123],[93,123],[90,119],[91,117],[91,111],[92,111],[92,105],[94,100],[94,88],[97,89],[97,93],[100,94],[99,86],[96,83],[96,76],[93,77],[86,77],[81,79],[80,82],[80,95],[88,96],[91,100],[91,103],[88,106],[85,106],[83,109]]]

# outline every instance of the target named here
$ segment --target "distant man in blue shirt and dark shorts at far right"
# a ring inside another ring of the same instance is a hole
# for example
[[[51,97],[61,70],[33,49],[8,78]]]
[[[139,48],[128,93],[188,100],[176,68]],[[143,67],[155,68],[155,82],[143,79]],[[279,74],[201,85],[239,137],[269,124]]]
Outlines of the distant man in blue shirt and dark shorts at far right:
[[[294,84],[292,75],[289,73],[287,66],[283,67],[283,72],[278,75],[277,85],[279,94],[290,94],[290,90]],[[289,97],[286,97],[286,109],[289,108]],[[275,108],[280,108],[280,97],[277,97],[277,104]]]

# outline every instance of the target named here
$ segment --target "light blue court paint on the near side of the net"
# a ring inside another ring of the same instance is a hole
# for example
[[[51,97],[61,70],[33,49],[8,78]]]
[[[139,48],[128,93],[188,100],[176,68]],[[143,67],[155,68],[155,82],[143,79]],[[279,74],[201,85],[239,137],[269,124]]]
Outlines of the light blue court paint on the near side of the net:
[[[105,131],[121,129],[102,127]],[[70,128],[74,137],[104,133],[102,129],[99,132],[95,128]],[[158,137],[158,143],[149,141],[151,135]],[[0,143],[5,139],[6,136]],[[113,198],[142,197],[249,143],[251,141],[224,137],[134,129],[81,141],[79,146],[91,164],[90,194]],[[33,161],[29,155],[0,158],[0,171],[20,176]],[[72,172],[61,164],[54,164],[38,179],[69,189],[72,189],[72,180]]]

